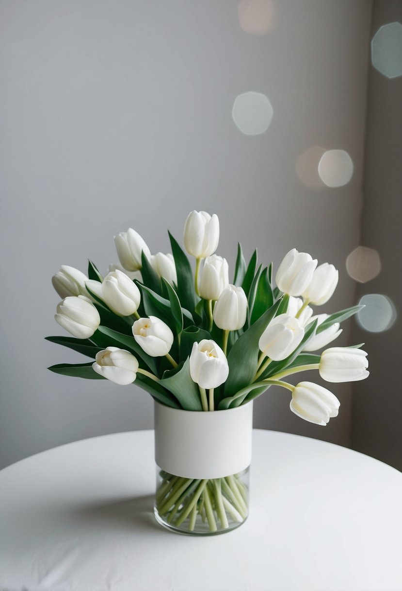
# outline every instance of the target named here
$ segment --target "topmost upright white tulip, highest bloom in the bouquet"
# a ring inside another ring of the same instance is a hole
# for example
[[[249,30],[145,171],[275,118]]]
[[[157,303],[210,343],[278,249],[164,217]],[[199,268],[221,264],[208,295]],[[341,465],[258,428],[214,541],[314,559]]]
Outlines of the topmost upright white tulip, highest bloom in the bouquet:
[[[219,219],[206,212],[191,212],[184,224],[184,247],[195,258],[212,255],[218,248]]]

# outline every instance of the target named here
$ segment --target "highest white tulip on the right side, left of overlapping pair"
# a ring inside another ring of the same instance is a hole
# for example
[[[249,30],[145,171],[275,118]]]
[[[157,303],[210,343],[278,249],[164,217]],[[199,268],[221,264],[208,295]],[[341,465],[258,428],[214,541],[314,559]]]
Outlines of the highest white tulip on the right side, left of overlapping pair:
[[[317,259],[313,261],[307,252],[298,252],[292,248],[279,265],[276,285],[289,296],[301,296],[312,279],[315,267]]]

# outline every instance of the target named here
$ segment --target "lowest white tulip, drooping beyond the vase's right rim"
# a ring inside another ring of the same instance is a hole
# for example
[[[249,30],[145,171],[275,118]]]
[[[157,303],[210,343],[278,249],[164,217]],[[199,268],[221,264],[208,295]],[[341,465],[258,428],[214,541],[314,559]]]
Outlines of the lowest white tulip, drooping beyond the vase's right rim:
[[[291,411],[309,423],[326,425],[331,417],[338,415],[338,398],[312,382],[300,382],[292,392]]]

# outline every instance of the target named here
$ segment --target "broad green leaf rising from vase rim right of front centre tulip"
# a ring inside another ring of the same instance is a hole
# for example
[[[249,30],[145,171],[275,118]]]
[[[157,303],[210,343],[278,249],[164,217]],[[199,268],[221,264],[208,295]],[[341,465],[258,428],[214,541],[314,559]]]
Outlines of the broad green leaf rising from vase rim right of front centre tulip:
[[[236,394],[240,389],[251,384],[257,371],[259,348],[258,341],[274,318],[279,301],[247,329],[234,343],[228,355],[229,376],[225,382],[225,396]]]

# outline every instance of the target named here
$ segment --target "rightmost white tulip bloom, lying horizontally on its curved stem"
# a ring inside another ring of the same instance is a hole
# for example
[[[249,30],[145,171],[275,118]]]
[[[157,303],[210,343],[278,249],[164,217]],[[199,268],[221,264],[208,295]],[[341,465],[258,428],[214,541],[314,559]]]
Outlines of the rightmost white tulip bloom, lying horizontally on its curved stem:
[[[321,353],[319,375],[327,382],[356,382],[367,378],[367,353],[361,349],[332,347]]]

